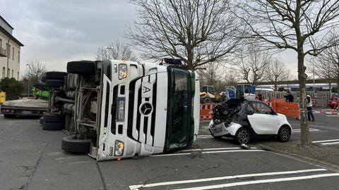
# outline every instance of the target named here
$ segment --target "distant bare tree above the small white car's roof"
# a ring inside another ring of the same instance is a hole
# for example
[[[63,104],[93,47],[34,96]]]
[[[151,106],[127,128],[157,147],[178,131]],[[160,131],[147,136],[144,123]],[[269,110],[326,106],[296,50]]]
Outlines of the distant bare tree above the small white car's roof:
[[[258,85],[267,79],[271,60],[269,54],[255,44],[249,44],[246,51],[240,53],[238,67],[247,83]]]

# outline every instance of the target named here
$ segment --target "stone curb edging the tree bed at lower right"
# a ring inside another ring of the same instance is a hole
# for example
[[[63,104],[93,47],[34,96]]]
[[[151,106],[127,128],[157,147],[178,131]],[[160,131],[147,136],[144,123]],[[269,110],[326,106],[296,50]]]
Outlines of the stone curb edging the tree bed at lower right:
[[[297,159],[297,160],[302,160],[304,162],[307,161],[311,164],[318,165],[319,167],[324,167],[328,170],[332,170],[333,172],[339,172],[339,165],[336,165],[336,164],[333,164],[333,163],[327,163],[327,162],[322,161],[322,160],[316,160],[315,158],[309,158],[307,156],[301,156],[299,154],[281,151],[277,148],[272,148],[270,146],[266,146],[266,145],[263,145],[263,144],[256,144],[256,146],[258,146],[258,148],[261,148],[261,149],[266,150],[266,151],[272,151],[274,153],[278,153],[278,154],[281,154],[283,156],[288,156],[288,157],[291,157],[291,158],[294,158],[294,159]]]

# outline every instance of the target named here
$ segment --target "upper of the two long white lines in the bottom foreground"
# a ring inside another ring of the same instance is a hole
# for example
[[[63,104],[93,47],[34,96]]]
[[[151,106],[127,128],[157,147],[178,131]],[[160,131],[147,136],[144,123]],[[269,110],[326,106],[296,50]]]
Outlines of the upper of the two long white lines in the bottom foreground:
[[[160,183],[153,183],[153,184],[138,184],[138,185],[129,186],[129,189],[137,190],[138,188],[141,188],[141,187],[144,188],[144,187],[164,186],[164,185],[173,185],[173,184],[191,184],[191,183],[198,183],[198,182],[218,181],[218,180],[224,180],[224,179],[272,176],[272,175],[289,175],[289,174],[299,174],[299,173],[304,173],[304,172],[319,172],[319,171],[327,171],[327,170],[323,168],[319,168],[319,169],[309,169],[309,170],[292,170],[292,171],[285,171],[285,172],[264,172],[264,173],[254,173],[254,174],[246,174],[246,175],[229,175],[229,176],[222,176],[222,177],[189,179],[189,180],[182,180],[182,181],[160,182]]]

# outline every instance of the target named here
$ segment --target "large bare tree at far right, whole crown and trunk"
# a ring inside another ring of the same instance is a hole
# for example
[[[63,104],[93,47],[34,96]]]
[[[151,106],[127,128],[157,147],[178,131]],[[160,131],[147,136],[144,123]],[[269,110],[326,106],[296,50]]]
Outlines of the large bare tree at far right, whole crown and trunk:
[[[339,1],[333,0],[239,0],[236,13],[249,26],[249,37],[263,46],[293,49],[297,52],[300,99],[301,145],[309,146],[304,58],[317,56],[335,46],[326,35],[338,26]]]

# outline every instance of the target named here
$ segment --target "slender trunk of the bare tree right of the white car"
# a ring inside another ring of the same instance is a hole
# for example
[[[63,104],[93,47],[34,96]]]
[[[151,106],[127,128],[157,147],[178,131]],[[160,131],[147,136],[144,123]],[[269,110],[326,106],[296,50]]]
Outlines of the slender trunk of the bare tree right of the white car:
[[[301,52],[300,52],[301,51]],[[307,122],[307,106],[306,106],[306,79],[304,66],[304,53],[303,49],[298,52],[298,79],[299,79],[299,92],[300,92],[300,127],[301,127],[301,145],[302,147],[309,146],[309,125]]]

